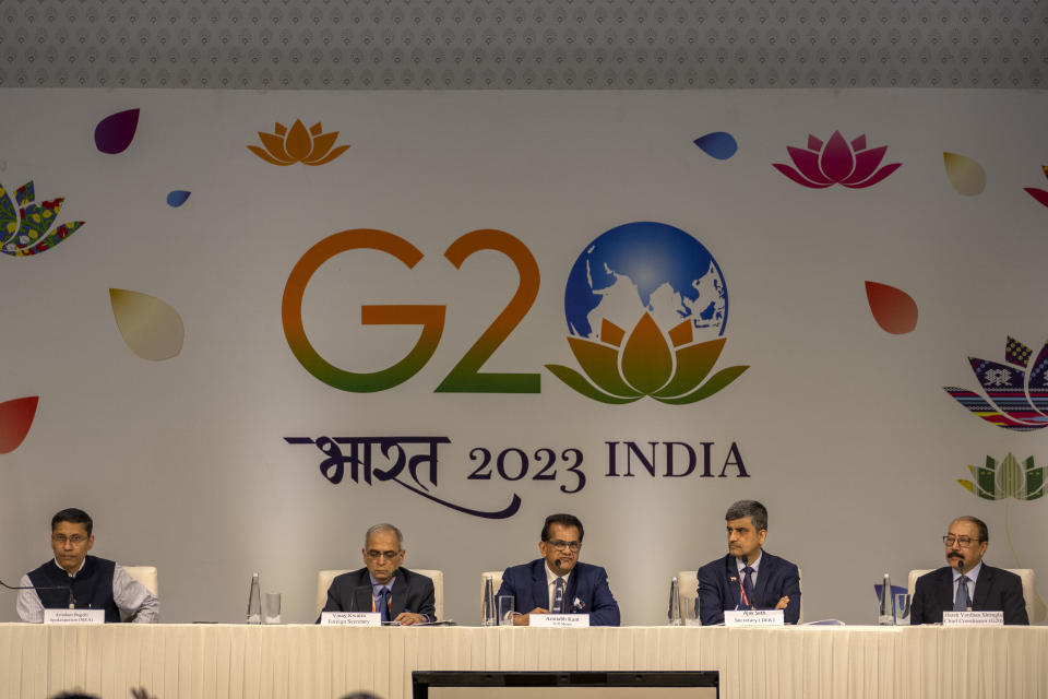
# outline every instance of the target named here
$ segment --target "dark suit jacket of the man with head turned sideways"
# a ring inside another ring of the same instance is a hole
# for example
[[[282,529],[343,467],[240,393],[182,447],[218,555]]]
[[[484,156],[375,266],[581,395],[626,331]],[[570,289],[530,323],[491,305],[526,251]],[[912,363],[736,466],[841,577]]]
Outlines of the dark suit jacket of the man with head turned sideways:
[[[699,569],[699,619],[703,626],[724,624],[724,611],[735,609],[741,603],[738,559],[728,554]],[[761,567],[757,571],[753,589],[753,607],[774,609],[783,596],[789,604],[783,612],[786,624],[797,624],[800,618],[800,573],[797,566],[785,558],[761,554]]]

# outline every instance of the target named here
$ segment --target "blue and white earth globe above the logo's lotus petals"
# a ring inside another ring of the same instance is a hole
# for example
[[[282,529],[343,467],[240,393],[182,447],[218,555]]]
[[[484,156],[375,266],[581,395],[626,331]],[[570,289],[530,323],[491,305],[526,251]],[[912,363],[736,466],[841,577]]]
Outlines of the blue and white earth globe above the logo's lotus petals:
[[[605,320],[629,334],[644,313],[663,332],[690,321],[696,341],[724,334],[724,275],[680,228],[653,222],[611,228],[586,246],[568,275],[564,316],[572,335],[600,340]]]

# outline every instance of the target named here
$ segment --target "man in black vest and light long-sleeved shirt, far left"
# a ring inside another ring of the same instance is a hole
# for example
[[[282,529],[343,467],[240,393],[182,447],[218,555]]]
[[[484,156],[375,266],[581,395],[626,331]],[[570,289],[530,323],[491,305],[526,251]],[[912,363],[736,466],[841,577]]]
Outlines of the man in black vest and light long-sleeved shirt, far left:
[[[119,565],[88,556],[95,545],[91,516],[69,508],[51,518],[55,558],[22,577],[17,611],[23,621],[39,624],[44,609],[105,609],[106,621],[150,624],[160,617],[160,601]]]

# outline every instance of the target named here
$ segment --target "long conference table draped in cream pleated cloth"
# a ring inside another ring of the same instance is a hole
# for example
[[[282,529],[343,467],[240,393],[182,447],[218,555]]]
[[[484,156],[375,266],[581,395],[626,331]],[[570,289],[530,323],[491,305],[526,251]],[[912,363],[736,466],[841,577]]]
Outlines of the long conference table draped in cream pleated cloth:
[[[716,670],[720,697],[1048,697],[1048,627],[0,625],[0,697],[412,696],[414,670]]]

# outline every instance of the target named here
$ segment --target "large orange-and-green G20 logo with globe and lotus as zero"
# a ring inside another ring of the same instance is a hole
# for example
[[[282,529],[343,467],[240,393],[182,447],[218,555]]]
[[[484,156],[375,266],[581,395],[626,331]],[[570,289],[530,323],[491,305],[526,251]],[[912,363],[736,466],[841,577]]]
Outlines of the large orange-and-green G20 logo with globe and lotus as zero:
[[[384,391],[415,376],[437,351],[444,329],[443,305],[360,307],[365,325],[420,325],[407,355],[385,369],[348,371],[320,356],[302,327],[302,297],[310,279],[336,254],[378,250],[408,269],[422,259],[410,242],[372,228],[324,238],[295,264],[284,288],[284,334],[307,371],[334,388],[357,393]],[[538,393],[538,374],[483,374],[480,367],[531,310],[538,295],[538,264],[512,235],[483,229],[460,237],[444,258],[461,269],[475,252],[492,250],[516,266],[519,284],[509,305],[481,333],[437,392]],[[650,396],[669,404],[708,398],[747,368],[722,369],[708,378],[727,341],[728,295],[716,260],[701,242],[672,226],[639,222],[612,228],[587,245],[575,261],[564,293],[568,344],[583,369],[546,368],[583,395],[604,403]],[[632,329],[632,330],[627,330]]]

